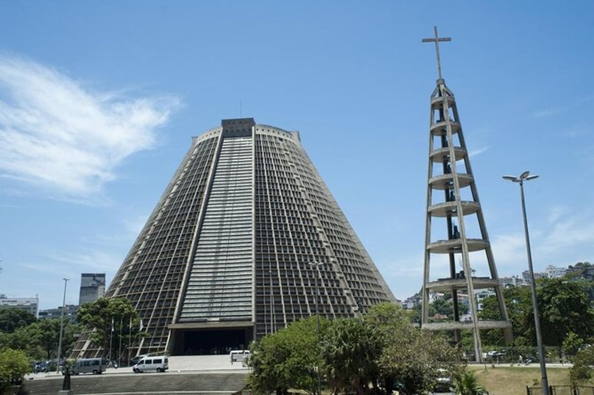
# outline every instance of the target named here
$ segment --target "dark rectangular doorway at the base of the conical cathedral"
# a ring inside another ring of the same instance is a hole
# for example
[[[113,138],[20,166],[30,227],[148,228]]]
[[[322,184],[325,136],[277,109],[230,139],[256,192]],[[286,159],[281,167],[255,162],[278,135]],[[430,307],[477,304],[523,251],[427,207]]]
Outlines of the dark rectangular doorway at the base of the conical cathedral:
[[[174,355],[228,354],[231,350],[247,349],[252,340],[252,328],[178,330],[175,334]]]

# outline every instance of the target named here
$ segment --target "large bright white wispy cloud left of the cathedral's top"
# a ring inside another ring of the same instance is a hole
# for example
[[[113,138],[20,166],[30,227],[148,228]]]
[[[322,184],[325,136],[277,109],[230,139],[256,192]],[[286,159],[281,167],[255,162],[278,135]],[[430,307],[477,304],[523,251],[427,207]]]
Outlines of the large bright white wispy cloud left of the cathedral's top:
[[[0,54],[0,173],[89,202],[129,155],[154,146],[172,96],[96,92],[31,60]]]

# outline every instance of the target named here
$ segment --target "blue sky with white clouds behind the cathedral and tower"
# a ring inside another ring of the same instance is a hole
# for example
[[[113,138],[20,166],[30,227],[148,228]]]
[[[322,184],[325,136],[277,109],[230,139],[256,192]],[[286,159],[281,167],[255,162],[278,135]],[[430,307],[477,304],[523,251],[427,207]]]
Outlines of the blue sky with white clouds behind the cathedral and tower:
[[[300,130],[399,298],[421,288],[434,24],[500,275],[594,261],[594,4],[2,2],[0,292],[78,302],[112,279],[221,119]],[[481,266],[481,258],[476,259]],[[445,269],[435,262],[435,275]],[[481,268],[477,267],[479,273]]]

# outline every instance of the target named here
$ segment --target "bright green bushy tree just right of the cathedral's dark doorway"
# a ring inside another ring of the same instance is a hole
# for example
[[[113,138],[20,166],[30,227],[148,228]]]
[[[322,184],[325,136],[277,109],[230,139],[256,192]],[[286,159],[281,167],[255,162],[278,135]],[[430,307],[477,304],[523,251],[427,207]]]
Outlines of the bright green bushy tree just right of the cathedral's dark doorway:
[[[320,332],[329,321],[320,317]],[[289,388],[317,393],[317,365],[324,368],[318,352],[315,317],[295,321],[267,335],[250,347],[252,371],[248,381],[255,393],[286,393]]]

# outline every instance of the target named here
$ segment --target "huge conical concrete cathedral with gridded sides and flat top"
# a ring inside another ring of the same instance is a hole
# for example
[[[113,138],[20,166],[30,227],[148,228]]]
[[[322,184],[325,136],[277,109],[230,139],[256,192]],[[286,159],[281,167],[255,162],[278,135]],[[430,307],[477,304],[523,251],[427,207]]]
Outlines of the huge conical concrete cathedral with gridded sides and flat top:
[[[193,139],[106,297],[142,318],[131,355],[183,355],[247,347],[315,314],[315,295],[327,317],[394,300],[298,132],[244,118]]]

